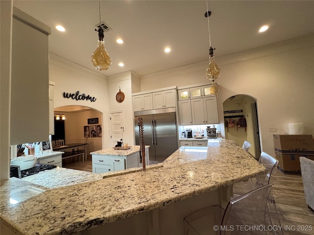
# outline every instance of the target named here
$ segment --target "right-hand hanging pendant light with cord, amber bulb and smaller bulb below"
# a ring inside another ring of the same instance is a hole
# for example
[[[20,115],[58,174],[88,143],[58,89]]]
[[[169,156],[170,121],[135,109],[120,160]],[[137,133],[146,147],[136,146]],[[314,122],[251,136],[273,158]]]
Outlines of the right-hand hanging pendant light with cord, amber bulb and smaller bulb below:
[[[217,95],[219,90],[217,88],[217,83],[215,83],[214,80],[216,80],[220,76],[220,68],[215,62],[214,49],[216,48],[211,47],[210,29],[209,29],[209,16],[211,15],[211,12],[208,10],[208,0],[206,0],[206,6],[207,6],[207,12],[205,13],[205,17],[207,17],[208,33],[209,33],[209,65],[206,70],[206,77],[212,82],[212,86],[209,90],[209,93],[212,95]]]

